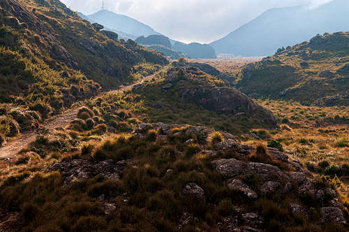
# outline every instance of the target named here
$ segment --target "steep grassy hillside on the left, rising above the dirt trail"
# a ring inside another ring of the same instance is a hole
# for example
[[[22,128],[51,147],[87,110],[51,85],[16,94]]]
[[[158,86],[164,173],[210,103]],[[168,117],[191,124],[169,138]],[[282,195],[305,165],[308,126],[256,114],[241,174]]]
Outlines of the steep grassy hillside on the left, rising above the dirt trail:
[[[142,62],[168,64],[163,55],[100,29],[60,1],[0,1],[0,145],[36,119],[132,82]]]

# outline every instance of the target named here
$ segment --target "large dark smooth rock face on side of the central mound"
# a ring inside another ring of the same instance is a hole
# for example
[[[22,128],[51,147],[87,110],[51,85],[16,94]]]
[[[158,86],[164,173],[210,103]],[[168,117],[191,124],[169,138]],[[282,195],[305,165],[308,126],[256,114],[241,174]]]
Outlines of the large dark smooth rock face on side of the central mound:
[[[254,117],[265,124],[277,127],[276,118],[269,110],[258,106],[248,96],[230,87],[184,89],[181,91],[181,96],[218,114]]]

